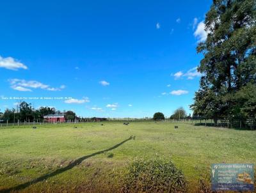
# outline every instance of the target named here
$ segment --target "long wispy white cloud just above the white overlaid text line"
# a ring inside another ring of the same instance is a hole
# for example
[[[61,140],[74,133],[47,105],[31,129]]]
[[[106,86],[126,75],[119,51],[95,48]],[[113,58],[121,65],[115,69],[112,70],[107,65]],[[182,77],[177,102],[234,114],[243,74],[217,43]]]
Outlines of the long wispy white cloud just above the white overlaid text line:
[[[40,88],[45,89],[47,91],[61,91],[61,89],[65,88],[65,85],[61,85],[60,88],[53,88],[47,84],[43,84],[42,82],[26,81],[23,79],[9,79],[8,81],[11,84],[11,88],[18,91],[32,91],[30,88]]]

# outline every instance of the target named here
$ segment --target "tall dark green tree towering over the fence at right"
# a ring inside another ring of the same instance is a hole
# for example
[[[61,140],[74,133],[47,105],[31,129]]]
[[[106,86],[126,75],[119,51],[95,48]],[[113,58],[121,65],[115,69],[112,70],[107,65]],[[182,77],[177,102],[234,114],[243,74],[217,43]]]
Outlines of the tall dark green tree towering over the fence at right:
[[[256,116],[255,107],[242,94],[256,84],[256,1],[214,0],[205,31],[207,40],[197,47],[204,55],[198,67],[200,89],[191,109],[214,120],[234,117],[236,112],[240,118]]]

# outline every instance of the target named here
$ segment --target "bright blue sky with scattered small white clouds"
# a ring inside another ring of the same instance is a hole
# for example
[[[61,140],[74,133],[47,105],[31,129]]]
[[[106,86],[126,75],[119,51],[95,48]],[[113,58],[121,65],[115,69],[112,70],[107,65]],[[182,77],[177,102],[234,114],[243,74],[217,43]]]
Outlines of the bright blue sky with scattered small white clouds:
[[[191,112],[211,3],[1,1],[1,111],[37,97],[86,117]]]

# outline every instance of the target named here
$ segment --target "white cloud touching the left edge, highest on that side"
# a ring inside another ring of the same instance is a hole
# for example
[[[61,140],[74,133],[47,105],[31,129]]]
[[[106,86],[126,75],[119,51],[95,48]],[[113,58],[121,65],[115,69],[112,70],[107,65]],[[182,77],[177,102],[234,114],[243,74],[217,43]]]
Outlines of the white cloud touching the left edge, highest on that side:
[[[28,69],[28,67],[19,61],[15,61],[12,57],[3,58],[0,56],[0,68],[8,70],[18,70],[19,68]]]

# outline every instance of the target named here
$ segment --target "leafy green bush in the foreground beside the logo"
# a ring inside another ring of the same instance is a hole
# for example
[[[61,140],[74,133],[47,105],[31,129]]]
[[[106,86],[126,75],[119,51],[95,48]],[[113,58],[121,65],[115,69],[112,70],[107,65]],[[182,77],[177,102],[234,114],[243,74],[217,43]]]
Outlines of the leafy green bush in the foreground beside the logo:
[[[186,192],[182,171],[171,160],[136,159],[125,172],[122,192]]]

